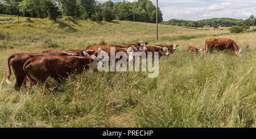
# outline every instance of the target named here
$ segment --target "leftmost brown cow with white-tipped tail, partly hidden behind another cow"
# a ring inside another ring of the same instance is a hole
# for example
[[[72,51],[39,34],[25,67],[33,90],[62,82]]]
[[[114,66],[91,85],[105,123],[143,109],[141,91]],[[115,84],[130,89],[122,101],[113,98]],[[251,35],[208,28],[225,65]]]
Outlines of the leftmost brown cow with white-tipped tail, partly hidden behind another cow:
[[[54,53],[14,53],[8,58],[9,74],[6,76],[6,83],[8,85],[13,85],[10,82],[11,68],[13,67],[13,73],[16,78],[15,89],[19,90],[20,86],[26,77],[26,74],[23,71],[24,63],[31,57],[34,56],[77,56],[77,54],[66,53],[66,52],[54,52]],[[26,82],[25,82],[26,83]]]

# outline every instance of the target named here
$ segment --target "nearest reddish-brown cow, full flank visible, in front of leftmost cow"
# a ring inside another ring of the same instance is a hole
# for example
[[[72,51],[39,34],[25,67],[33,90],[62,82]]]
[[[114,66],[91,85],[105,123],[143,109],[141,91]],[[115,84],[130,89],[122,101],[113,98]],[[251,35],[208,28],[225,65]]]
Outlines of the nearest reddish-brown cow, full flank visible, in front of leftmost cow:
[[[91,57],[36,56],[25,62],[23,70],[31,87],[36,82],[61,83],[69,74],[79,74],[89,68],[97,69],[98,64],[102,63],[94,55]]]

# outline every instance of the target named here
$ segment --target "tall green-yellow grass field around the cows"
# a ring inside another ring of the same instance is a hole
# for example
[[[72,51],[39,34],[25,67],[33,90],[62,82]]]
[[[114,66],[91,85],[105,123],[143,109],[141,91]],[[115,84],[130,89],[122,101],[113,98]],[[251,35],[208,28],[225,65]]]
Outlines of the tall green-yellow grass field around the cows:
[[[145,72],[88,70],[57,87],[40,83],[15,92],[5,82],[10,54],[156,42],[155,24],[150,23],[13,21],[0,23],[0,127],[255,127],[256,32],[159,25],[157,44],[180,47],[160,58],[158,78],[147,78]],[[204,48],[208,37],[233,39],[243,55],[186,51],[188,45]]]

